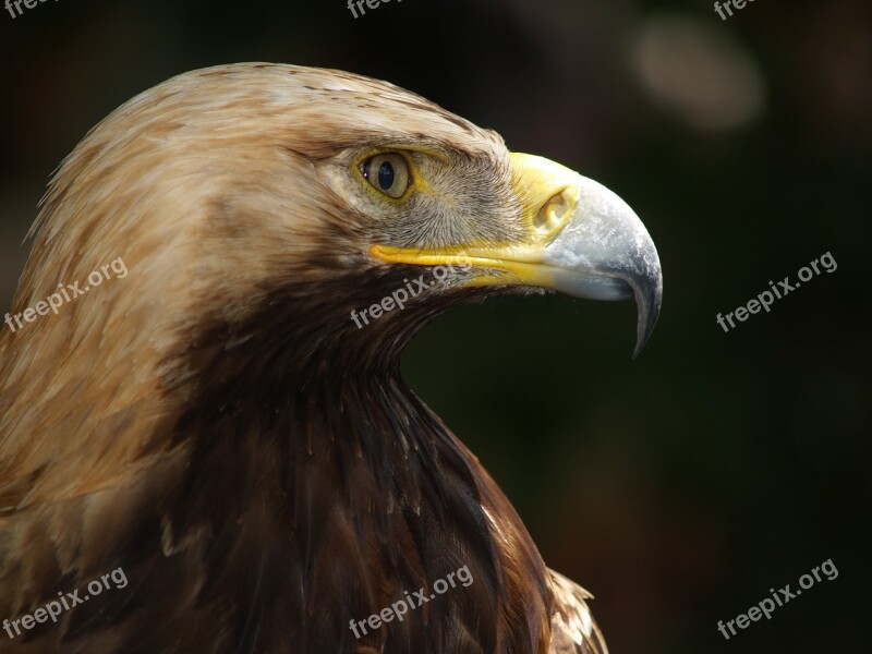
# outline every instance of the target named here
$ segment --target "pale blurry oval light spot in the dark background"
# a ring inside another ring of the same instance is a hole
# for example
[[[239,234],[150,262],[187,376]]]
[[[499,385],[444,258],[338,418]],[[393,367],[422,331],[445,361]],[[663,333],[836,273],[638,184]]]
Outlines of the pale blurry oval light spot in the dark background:
[[[650,19],[635,36],[631,57],[654,101],[695,128],[738,128],[763,111],[760,66],[720,25],[679,16]]]

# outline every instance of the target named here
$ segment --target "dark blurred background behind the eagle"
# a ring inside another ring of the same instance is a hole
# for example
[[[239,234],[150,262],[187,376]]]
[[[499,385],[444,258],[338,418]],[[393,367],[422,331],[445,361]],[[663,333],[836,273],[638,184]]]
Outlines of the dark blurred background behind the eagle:
[[[631,304],[455,311],[412,386],[545,560],[596,595],[614,654],[869,651],[872,5],[707,0],[40,2],[0,13],[0,312],[49,173],[118,105],[235,61],[391,81],[607,184],[664,267]],[[715,322],[831,252],[772,312]],[[718,620],[832,559],[728,642]]]

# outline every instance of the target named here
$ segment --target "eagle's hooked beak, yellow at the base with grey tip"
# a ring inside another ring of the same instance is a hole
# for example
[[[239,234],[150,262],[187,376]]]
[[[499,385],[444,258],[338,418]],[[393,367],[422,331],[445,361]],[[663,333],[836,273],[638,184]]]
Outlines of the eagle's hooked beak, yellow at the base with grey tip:
[[[592,300],[635,299],[633,358],[657,323],[663,276],[657,249],[635,213],[591,179],[533,155],[512,154],[512,189],[525,235],[432,250],[374,245],[373,256],[422,266],[472,265],[465,286],[522,284]]]

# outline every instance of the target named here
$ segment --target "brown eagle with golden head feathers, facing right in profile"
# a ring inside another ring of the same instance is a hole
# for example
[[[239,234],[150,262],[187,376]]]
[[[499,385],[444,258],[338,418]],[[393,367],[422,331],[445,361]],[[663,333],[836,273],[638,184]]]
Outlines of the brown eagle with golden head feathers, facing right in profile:
[[[452,305],[548,290],[634,299],[641,348],[659,262],[615,194],[391,84],[249,63],[112,112],[33,231],[0,652],[606,652],[399,356]]]

